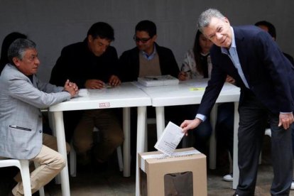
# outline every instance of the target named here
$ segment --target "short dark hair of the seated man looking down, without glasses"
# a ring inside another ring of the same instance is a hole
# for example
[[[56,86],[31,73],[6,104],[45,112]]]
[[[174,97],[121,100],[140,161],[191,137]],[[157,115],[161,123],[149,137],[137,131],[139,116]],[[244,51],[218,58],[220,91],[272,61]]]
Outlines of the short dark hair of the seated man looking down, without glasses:
[[[108,24],[104,22],[98,22],[92,24],[89,28],[87,36],[91,35],[94,39],[102,38],[107,40],[114,40],[114,29]]]

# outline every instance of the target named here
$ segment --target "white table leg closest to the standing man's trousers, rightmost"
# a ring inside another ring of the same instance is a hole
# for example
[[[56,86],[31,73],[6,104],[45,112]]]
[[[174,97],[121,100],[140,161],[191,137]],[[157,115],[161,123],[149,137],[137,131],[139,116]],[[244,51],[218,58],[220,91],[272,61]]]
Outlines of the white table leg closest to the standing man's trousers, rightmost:
[[[234,102],[234,157],[233,157],[233,189],[236,189],[239,181],[238,168],[238,128],[239,128],[239,102]]]

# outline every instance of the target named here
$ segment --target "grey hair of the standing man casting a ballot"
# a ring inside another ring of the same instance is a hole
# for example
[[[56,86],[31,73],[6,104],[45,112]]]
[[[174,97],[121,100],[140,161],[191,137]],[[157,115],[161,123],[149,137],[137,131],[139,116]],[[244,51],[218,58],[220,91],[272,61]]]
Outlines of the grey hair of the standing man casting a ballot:
[[[197,22],[197,27],[199,31],[201,31],[201,33],[203,33],[203,28],[209,26],[209,23],[212,20],[212,18],[223,19],[224,15],[222,15],[222,13],[220,13],[220,11],[218,11],[217,9],[207,9],[203,11],[200,14]]]

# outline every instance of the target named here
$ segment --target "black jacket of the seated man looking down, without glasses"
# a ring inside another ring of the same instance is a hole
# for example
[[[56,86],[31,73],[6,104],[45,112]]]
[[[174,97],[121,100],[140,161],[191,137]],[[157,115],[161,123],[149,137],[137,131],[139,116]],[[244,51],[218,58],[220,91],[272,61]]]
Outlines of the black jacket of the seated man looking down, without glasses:
[[[85,88],[85,82],[89,79],[107,83],[111,75],[118,75],[118,66],[119,58],[114,47],[109,46],[97,57],[89,50],[85,39],[62,49],[51,72],[50,83],[61,86],[68,79],[75,82],[80,89]]]

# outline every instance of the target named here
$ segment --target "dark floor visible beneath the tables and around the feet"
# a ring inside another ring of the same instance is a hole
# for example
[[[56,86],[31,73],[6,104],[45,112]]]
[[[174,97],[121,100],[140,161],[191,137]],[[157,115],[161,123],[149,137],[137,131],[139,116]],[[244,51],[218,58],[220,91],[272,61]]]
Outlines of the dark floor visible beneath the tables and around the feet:
[[[232,183],[222,180],[225,173],[224,168],[207,171],[207,190],[209,196],[233,195]],[[272,168],[269,164],[261,164],[258,170],[256,195],[270,195],[271,180],[273,178]],[[117,168],[111,166],[103,172],[93,170],[78,171],[76,178],[70,178],[70,190],[72,196],[94,196],[94,195],[135,195],[134,170],[130,178],[122,177]],[[45,187],[46,195],[61,196],[60,185],[50,183]],[[294,191],[290,192],[294,195]]]

